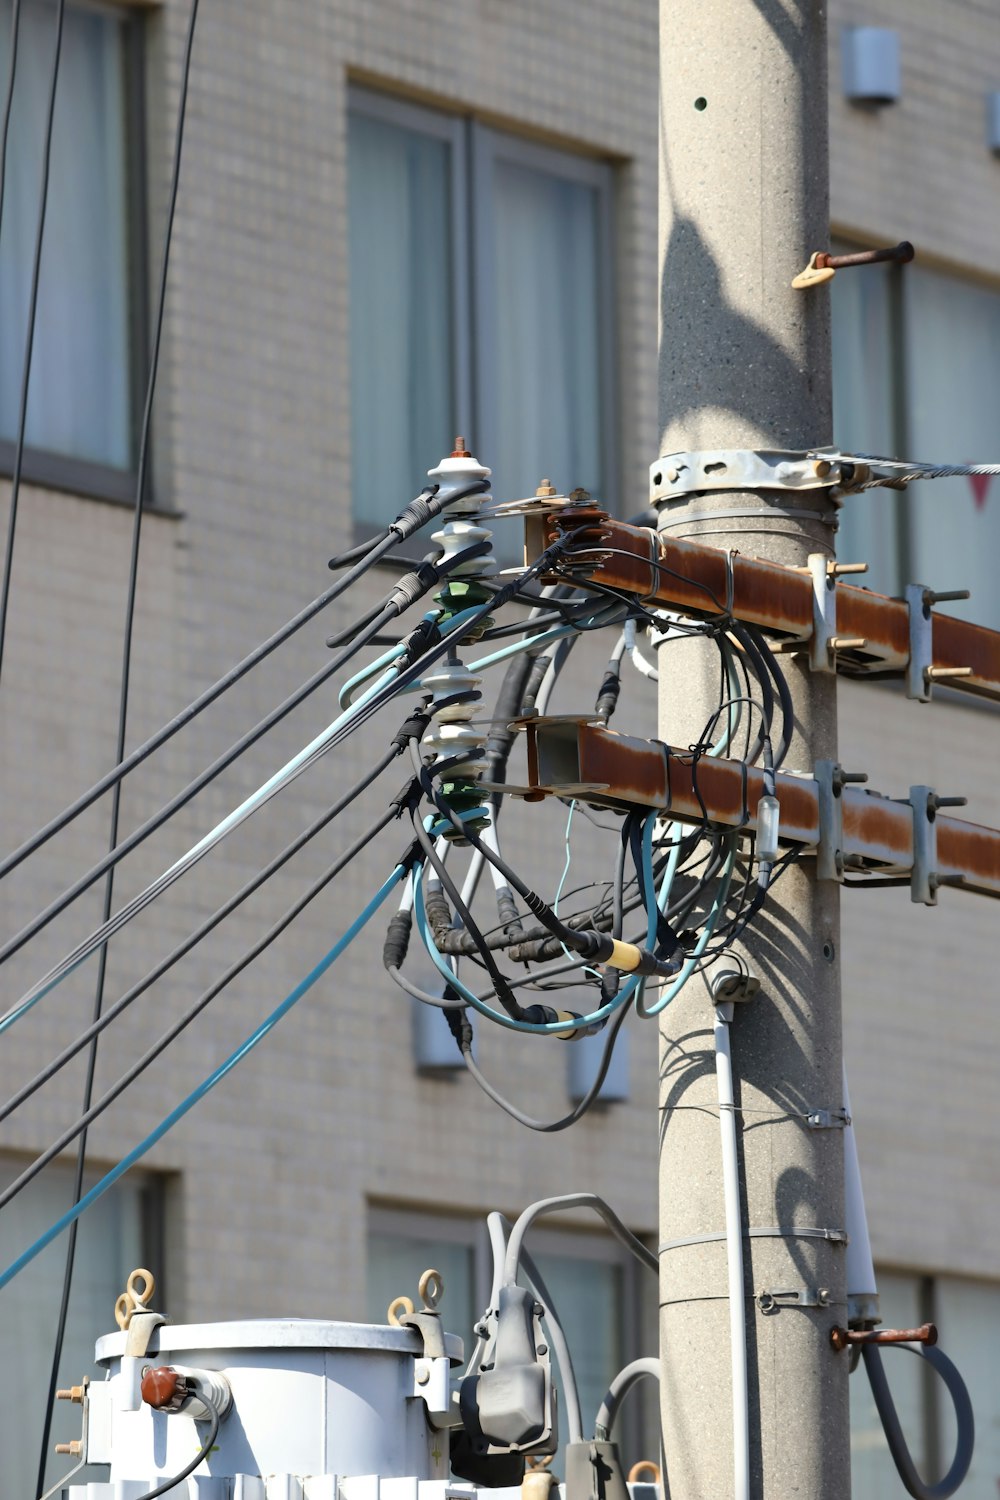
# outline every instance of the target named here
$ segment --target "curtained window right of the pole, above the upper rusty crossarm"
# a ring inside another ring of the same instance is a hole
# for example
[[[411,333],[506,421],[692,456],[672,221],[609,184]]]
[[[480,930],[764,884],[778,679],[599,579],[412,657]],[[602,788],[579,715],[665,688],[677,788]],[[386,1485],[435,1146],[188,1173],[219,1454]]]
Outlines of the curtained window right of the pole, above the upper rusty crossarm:
[[[834,432],[846,452],[918,462],[997,462],[1000,290],[921,266],[873,266],[832,282]],[[1000,483],[916,482],[849,496],[838,554],[865,584],[969,588],[948,612],[1000,627],[993,558]]]

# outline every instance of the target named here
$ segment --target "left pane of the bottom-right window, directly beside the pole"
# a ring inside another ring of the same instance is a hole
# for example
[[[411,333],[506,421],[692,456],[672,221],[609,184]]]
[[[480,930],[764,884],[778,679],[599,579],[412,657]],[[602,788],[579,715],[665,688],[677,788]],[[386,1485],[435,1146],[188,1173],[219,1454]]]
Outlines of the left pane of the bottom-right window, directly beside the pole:
[[[879,1305],[883,1328],[916,1328],[922,1322],[919,1280],[880,1270]],[[924,1473],[921,1365],[906,1350],[889,1348],[883,1359],[903,1432]],[[850,1377],[850,1492],[852,1500],[885,1500],[903,1492],[864,1364]]]

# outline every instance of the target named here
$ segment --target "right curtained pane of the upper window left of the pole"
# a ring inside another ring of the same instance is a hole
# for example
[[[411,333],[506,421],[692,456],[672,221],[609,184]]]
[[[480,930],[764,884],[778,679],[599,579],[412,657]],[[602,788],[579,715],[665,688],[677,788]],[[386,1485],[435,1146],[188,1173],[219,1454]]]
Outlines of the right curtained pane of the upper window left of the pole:
[[[598,192],[501,156],[492,188],[493,489],[516,500],[547,477],[603,496]]]

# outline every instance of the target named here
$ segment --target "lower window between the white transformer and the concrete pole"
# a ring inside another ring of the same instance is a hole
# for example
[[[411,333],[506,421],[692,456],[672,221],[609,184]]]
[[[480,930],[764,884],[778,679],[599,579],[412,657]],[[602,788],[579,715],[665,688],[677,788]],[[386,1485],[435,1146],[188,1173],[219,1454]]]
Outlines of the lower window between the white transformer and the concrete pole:
[[[532,1226],[528,1246],[556,1304],[580,1395],[585,1436],[612,1377],[631,1359],[657,1350],[655,1278],[604,1233]],[[385,1322],[390,1302],[415,1299],[417,1281],[433,1266],[445,1294],[441,1311],[448,1332],[471,1348],[472,1328],[489,1305],[492,1257],[484,1220],[465,1220],[402,1209],[370,1208],[367,1234],[367,1317]],[[565,1401],[558,1368],[561,1450],[567,1440]],[[657,1461],[658,1394],[642,1382],[624,1402],[615,1438],[627,1467],[639,1458]],[[559,1468],[559,1456],[553,1461]]]

